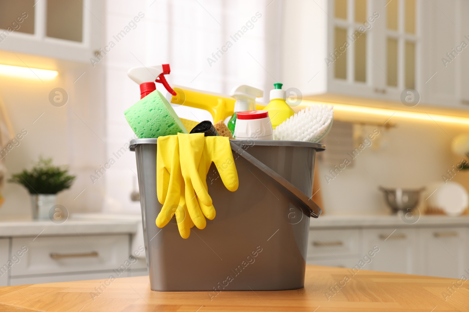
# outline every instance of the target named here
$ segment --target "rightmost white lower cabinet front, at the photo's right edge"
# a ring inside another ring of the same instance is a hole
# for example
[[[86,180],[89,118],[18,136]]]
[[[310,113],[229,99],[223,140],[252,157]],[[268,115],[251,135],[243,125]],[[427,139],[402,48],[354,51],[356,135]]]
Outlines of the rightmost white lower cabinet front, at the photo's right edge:
[[[461,227],[420,229],[424,275],[460,278],[465,274],[466,231]]]

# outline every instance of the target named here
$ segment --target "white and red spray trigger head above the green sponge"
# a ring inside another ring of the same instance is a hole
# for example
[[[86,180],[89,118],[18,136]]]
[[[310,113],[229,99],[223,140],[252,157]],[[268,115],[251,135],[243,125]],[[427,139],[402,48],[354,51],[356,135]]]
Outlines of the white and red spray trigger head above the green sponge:
[[[174,92],[174,90],[169,86],[165,78],[165,75],[170,72],[171,69],[169,68],[169,64],[163,64],[130,68],[127,75],[130,79],[140,85],[140,99],[143,99],[145,96],[156,90],[155,82],[163,84],[170,94],[176,95],[176,92]]]

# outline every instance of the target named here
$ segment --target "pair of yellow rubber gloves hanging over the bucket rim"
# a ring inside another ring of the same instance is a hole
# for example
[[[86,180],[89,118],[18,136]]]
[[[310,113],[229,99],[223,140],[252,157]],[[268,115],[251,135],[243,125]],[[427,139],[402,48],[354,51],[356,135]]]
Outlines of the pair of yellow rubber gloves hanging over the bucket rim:
[[[188,238],[192,226],[205,227],[204,216],[215,218],[206,182],[212,162],[225,187],[232,192],[238,189],[228,138],[204,137],[202,133],[158,138],[157,196],[163,204],[156,219],[158,227],[165,226],[175,214],[181,237]]]

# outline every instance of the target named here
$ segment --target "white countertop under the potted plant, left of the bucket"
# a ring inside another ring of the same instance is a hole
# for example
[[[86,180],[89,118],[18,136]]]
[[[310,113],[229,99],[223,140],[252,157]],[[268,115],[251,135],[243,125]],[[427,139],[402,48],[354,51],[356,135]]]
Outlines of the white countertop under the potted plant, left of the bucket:
[[[135,215],[71,215],[64,223],[50,220],[10,219],[0,222],[0,237],[78,234],[136,234],[142,219]],[[78,233],[78,234],[77,234]]]

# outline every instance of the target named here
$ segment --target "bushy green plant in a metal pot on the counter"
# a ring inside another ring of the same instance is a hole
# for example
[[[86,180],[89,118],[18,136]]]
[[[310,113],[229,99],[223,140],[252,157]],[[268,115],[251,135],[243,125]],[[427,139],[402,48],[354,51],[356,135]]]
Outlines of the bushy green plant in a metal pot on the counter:
[[[19,174],[13,174],[8,181],[28,189],[34,219],[47,219],[49,210],[55,205],[57,193],[69,189],[75,178],[75,175],[68,174],[67,168],[53,166],[52,158],[39,157],[31,170],[24,169]]]

